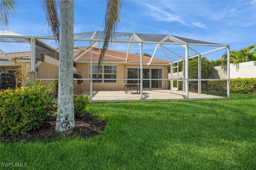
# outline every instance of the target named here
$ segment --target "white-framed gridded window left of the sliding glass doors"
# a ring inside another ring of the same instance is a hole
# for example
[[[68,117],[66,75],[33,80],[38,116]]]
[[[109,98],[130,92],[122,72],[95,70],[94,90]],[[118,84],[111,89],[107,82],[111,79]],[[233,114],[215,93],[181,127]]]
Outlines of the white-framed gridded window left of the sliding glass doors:
[[[98,65],[92,66],[92,79],[97,79],[97,68],[98,68]],[[89,70],[89,74],[90,74],[90,70]],[[104,79],[104,80],[92,80],[92,82],[116,83],[116,80],[113,80],[113,79],[116,79],[116,65],[102,65],[99,70],[98,79]]]

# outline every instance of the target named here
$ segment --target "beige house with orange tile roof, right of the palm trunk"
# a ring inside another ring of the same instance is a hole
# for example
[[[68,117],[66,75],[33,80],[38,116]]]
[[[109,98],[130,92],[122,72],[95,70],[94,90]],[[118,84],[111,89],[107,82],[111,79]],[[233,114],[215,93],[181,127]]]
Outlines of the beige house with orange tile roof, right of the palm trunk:
[[[140,55],[112,49],[106,51],[98,79],[96,79],[100,50],[99,47],[92,48],[92,78],[95,79],[93,90],[123,90],[124,83],[140,83],[140,80],[134,80],[140,79]],[[150,59],[151,57],[143,56],[142,77],[149,80],[143,80],[142,87],[144,89],[167,89],[166,80],[154,79],[167,79],[167,67],[170,61],[153,58],[151,64],[147,65]],[[90,47],[75,47],[74,61],[77,73],[84,79],[90,79]],[[90,90],[90,80],[84,81],[84,85],[84,90]]]

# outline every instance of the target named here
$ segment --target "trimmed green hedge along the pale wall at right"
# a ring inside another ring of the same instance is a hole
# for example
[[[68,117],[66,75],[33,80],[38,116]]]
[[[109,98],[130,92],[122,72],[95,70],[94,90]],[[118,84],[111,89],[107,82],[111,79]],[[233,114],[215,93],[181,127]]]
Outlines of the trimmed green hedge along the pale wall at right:
[[[211,91],[227,91],[226,81],[208,81]],[[256,78],[230,79],[230,93],[245,93],[256,95]]]

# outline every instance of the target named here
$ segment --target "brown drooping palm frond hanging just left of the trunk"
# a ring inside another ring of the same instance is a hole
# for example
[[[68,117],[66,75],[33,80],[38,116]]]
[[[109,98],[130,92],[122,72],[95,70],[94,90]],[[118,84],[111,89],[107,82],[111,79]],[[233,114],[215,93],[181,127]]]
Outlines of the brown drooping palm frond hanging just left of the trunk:
[[[46,12],[46,27],[49,34],[53,34],[54,38],[60,40],[60,19],[58,15],[59,1],[42,0],[42,8]]]

